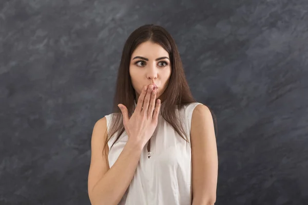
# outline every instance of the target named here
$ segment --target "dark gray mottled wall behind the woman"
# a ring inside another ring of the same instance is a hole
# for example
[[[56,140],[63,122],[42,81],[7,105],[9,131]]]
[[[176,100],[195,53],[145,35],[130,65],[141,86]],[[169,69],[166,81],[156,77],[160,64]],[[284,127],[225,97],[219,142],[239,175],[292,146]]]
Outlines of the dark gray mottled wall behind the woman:
[[[137,27],[218,118],[216,204],[307,204],[308,1],[0,1],[0,204],[90,204],[94,123]]]

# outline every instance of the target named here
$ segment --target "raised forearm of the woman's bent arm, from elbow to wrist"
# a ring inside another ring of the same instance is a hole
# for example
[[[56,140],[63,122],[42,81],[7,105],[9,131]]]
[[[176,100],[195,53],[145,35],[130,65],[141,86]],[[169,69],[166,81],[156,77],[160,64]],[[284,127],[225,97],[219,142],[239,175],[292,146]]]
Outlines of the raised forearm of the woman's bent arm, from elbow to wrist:
[[[93,205],[120,202],[136,172],[141,151],[140,144],[128,140],[117,161],[93,187]]]

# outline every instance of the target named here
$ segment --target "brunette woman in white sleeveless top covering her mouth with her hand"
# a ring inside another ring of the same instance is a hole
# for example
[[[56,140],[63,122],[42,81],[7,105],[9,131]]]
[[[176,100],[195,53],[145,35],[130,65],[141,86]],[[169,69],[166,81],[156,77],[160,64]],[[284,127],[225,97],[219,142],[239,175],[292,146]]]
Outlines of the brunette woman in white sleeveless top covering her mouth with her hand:
[[[91,203],[214,204],[217,175],[213,118],[190,93],[174,39],[141,26],[124,45],[113,113],[93,128]]]

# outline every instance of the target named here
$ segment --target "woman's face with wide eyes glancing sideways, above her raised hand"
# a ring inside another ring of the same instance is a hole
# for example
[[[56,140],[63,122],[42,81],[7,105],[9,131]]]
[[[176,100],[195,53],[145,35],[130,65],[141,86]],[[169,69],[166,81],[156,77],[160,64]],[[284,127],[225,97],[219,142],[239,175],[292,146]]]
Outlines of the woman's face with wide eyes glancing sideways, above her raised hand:
[[[144,42],[131,55],[129,74],[138,100],[144,86],[156,84],[159,98],[169,83],[170,56],[159,44]]]

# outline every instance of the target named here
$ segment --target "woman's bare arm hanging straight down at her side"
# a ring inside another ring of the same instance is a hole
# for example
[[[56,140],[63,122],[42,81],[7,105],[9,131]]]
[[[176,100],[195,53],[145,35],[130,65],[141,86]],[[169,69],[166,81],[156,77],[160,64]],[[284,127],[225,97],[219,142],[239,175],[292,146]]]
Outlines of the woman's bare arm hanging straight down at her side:
[[[209,109],[196,106],[191,117],[192,204],[213,205],[216,201],[218,154],[214,122]]]

